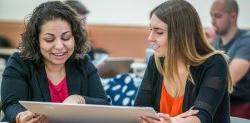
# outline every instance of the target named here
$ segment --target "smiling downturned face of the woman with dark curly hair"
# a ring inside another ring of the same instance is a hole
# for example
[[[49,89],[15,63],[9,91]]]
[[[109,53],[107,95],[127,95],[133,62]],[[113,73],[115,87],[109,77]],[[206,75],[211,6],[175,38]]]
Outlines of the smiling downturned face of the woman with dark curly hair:
[[[44,23],[39,34],[40,51],[46,65],[64,65],[74,52],[75,40],[67,21]]]

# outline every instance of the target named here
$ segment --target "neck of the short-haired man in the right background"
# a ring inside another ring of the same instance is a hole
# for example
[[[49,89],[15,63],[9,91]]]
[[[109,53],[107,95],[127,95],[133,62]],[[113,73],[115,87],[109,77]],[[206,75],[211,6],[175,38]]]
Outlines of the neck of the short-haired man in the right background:
[[[222,35],[221,36],[222,44],[223,45],[228,44],[233,39],[233,37],[236,35],[237,30],[238,30],[237,26],[234,26],[234,27],[230,28],[230,30],[225,35]]]

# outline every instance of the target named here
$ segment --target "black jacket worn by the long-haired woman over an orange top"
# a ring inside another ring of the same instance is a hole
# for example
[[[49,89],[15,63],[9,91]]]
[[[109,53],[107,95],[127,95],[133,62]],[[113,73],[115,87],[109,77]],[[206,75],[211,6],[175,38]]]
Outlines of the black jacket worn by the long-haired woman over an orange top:
[[[199,66],[191,66],[194,80],[187,81],[183,112],[194,106],[202,123],[230,123],[227,63],[221,55],[214,55]],[[153,107],[159,112],[163,76],[151,57],[135,105]]]

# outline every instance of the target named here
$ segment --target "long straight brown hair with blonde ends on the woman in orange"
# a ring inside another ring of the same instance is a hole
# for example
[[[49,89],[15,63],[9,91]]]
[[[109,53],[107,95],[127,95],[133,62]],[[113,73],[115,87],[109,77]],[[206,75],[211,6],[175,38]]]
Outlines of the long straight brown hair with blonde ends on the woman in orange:
[[[170,86],[172,96],[180,96],[185,84],[179,81],[177,59],[184,61],[188,70],[188,79],[192,81],[189,66],[198,66],[215,54],[227,56],[215,50],[205,38],[202,24],[194,7],[184,0],[168,0],[157,6],[150,16],[155,14],[167,24],[168,45],[163,64],[155,56],[158,71],[164,76],[164,84]],[[232,81],[228,71],[228,90],[232,90]]]

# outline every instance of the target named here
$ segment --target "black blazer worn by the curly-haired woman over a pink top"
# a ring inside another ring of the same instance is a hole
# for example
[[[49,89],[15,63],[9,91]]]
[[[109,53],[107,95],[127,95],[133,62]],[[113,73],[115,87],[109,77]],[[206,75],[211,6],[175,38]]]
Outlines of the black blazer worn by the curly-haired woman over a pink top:
[[[65,69],[69,95],[82,95],[87,104],[109,104],[97,70],[87,58],[68,60]],[[23,60],[19,53],[8,60],[1,90],[2,109],[10,122],[15,122],[16,115],[26,110],[19,100],[51,101],[44,64]]]

